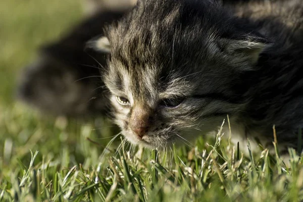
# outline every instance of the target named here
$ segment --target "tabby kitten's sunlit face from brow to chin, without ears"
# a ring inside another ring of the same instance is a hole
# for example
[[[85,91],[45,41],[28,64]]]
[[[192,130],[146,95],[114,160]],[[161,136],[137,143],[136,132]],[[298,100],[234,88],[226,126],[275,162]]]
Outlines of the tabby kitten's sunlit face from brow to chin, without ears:
[[[196,77],[192,77],[198,72],[175,71],[164,77],[171,67],[129,71],[119,61],[110,66],[113,72],[106,83],[112,92],[115,122],[134,144],[161,148],[176,140],[187,143],[189,136],[215,130],[226,115],[219,106],[223,100],[198,96]]]

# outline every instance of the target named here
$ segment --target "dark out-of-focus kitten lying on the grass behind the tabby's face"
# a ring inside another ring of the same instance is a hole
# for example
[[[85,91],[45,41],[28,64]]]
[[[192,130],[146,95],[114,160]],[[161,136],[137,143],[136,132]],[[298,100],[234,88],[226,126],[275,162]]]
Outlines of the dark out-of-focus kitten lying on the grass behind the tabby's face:
[[[37,61],[21,74],[18,98],[52,115],[104,114],[108,99],[99,71],[106,66],[106,54],[96,55],[85,46],[129,7],[91,14],[59,41],[42,46]]]

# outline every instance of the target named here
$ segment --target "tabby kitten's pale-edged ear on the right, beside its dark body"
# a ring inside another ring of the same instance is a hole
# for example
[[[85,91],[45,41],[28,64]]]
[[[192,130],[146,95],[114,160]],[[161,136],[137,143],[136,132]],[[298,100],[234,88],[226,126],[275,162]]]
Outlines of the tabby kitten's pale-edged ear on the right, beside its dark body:
[[[245,36],[239,39],[221,38],[219,46],[229,55],[256,64],[259,55],[271,46],[271,42],[259,36]]]

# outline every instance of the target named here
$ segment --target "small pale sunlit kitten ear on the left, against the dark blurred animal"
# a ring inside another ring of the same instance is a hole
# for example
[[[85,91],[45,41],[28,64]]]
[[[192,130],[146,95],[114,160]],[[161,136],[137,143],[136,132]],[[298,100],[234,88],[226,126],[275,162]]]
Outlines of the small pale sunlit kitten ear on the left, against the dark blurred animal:
[[[97,52],[110,53],[111,43],[106,36],[96,37],[86,42],[85,49],[92,48]]]

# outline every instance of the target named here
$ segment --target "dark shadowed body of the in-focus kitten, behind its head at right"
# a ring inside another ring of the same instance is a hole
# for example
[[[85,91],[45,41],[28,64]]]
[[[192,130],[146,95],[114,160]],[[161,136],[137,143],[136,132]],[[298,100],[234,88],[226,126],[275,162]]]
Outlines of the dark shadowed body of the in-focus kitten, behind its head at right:
[[[254,134],[268,147],[275,125],[282,151],[296,148],[297,132],[303,127],[303,6],[296,0],[264,1],[239,4],[233,11],[273,41],[261,54],[256,80],[247,92],[243,132]]]

